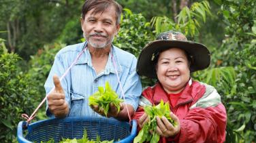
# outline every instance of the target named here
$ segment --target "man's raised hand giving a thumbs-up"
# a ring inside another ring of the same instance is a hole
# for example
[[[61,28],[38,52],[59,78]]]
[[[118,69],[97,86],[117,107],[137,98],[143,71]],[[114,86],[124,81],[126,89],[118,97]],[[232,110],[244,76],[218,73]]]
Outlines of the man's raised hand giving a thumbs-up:
[[[48,108],[55,117],[66,117],[69,113],[69,106],[65,101],[65,92],[57,75],[53,76],[53,82],[55,89],[47,96]]]

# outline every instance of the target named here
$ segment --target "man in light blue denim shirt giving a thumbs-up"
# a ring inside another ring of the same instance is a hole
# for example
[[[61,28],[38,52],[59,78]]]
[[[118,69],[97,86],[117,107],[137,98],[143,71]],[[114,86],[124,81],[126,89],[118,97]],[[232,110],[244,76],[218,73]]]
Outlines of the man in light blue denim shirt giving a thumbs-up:
[[[135,71],[137,59],[112,45],[114,36],[120,28],[121,12],[121,5],[114,0],[84,2],[81,26],[86,42],[69,45],[55,56],[44,85],[47,94],[55,86],[54,91],[47,98],[46,115],[50,117],[103,115],[97,106],[90,108],[88,98],[98,90],[99,86],[104,86],[106,81],[110,83],[119,98],[123,97],[122,91],[125,95],[125,102],[121,103],[121,111],[117,113],[115,106],[110,104],[108,117],[127,120],[129,115],[133,115],[142,91],[140,78]],[[79,54],[81,56],[76,60]],[[76,64],[60,82],[59,77],[74,61]],[[119,80],[121,84],[118,83]]]

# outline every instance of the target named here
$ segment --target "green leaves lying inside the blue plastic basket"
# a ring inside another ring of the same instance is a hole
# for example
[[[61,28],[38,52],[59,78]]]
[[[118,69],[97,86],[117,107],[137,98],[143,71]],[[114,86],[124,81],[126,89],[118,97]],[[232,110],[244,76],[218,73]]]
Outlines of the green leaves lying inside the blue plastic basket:
[[[86,129],[84,129],[84,135],[82,136],[81,139],[65,139],[63,138],[59,143],[113,143],[114,140],[108,141],[108,140],[104,140],[101,141],[100,137],[97,136],[96,140],[89,140],[88,136],[87,136],[87,132]],[[48,140],[47,142],[44,143],[54,143],[54,139]]]

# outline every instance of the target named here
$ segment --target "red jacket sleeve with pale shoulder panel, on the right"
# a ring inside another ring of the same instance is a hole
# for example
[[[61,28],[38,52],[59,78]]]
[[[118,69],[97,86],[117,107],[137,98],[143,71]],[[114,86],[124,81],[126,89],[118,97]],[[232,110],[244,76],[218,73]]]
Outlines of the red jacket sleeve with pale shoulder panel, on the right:
[[[186,117],[180,119],[181,131],[176,141],[225,142],[225,127],[227,124],[225,106],[223,106],[220,100],[219,103],[210,103],[209,100],[206,102],[207,98],[211,98],[211,96],[199,100],[197,105],[189,110]],[[220,97],[217,96],[217,98]],[[207,105],[204,103],[207,103]]]

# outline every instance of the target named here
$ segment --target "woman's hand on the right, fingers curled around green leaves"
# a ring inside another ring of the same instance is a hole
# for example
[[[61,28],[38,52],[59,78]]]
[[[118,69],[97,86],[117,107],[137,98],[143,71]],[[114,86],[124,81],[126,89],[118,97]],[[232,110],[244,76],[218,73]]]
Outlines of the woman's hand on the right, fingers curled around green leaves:
[[[178,117],[176,117],[174,113],[171,113],[171,117],[176,122],[175,127],[167,120],[166,117],[162,117],[161,119],[157,117],[157,133],[160,136],[165,138],[174,137],[180,132],[180,121]]]

